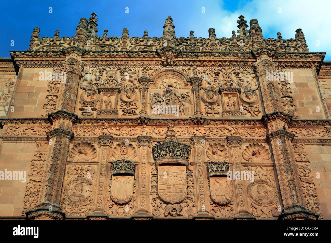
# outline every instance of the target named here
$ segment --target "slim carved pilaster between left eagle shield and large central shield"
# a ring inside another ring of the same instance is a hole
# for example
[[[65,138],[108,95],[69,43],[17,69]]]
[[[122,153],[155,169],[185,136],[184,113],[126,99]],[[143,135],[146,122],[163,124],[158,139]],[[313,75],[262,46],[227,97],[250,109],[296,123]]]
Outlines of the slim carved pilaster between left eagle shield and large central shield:
[[[148,209],[148,202],[147,202],[147,193],[150,193],[150,191],[147,191],[147,187],[149,186],[148,183],[148,176],[147,176],[147,165],[148,165],[148,159],[150,158],[151,154],[151,148],[152,148],[152,137],[151,136],[138,136],[138,148],[140,148],[140,159],[139,159],[139,182],[138,182],[138,188],[140,192],[138,193],[139,198],[137,199],[138,204],[138,212],[135,217],[151,217],[147,214]],[[149,170],[148,170],[149,171]]]

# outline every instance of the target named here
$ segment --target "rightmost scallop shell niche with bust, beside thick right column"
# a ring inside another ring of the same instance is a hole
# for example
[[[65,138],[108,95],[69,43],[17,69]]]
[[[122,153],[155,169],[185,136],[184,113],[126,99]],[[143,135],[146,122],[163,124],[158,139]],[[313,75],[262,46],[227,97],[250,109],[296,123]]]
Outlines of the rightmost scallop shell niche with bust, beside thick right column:
[[[243,158],[251,163],[265,162],[270,159],[270,156],[269,149],[259,143],[249,144],[243,151]]]

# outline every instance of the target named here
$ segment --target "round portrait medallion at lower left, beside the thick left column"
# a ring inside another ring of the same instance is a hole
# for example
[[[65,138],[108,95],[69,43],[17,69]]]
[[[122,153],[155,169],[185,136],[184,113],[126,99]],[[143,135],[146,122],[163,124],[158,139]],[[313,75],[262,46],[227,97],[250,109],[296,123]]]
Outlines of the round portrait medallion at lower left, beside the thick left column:
[[[92,194],[92,183],[85,178],[76,178],[64,190],[64,195],[69,202],[80,204],[89,199]]]

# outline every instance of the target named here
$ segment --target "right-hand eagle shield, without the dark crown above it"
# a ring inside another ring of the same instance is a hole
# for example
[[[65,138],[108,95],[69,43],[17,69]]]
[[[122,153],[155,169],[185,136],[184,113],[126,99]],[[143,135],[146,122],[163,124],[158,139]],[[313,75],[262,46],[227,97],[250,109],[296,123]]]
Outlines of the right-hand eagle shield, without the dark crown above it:
[[[226,177],[210,177],[210,196],[214,203],[227,204],[232,199],[231,181]]]

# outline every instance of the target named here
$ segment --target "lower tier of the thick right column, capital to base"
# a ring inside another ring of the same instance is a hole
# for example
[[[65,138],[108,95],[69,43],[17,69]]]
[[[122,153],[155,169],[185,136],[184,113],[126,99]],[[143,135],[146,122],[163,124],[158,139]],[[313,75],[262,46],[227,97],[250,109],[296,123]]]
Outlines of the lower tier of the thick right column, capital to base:
[[[277,179],[282,199],[282,213],[279,219],[316,220],[318,214],[305,207],[303,191],[299,179],[292,140],[295,134],[287,132],[287,123],[292,116],[283,112],[273,112],[262,116],[267,127],[267,139],[272,151],[277,171]],[[284,127],[285,126],[285,127]],[[284,127],[284,129],[282,129]]]

